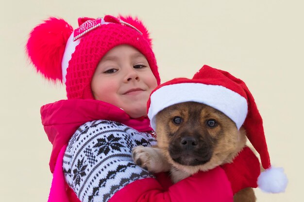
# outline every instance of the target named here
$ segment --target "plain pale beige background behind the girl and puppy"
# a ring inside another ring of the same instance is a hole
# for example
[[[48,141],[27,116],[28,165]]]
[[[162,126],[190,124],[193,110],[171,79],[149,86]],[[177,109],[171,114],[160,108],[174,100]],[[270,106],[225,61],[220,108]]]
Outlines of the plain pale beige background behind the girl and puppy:
[[[151,31],[162,81],[191,77],[209,64],[242,78],[262,117],[272,164],[289,178],[286,193],[259,202],[303,201],[304,3],[302,0],[1,0],[0,201],[46,202],[51,143],[39,109],[65,99],[24,55],[28,33],[59,16],[139,16]],[[301,160],[302,159],[302,160]],[[203,196],[202,196],[203,197]]]

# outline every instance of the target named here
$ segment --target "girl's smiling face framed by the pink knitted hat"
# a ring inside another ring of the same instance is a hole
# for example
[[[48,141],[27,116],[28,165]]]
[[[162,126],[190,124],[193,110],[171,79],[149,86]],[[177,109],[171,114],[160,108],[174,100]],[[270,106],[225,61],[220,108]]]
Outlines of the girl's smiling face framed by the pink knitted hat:
[[[109,50],[99,62],[91,82],[96,100],[115,105],[132,118],[147,116],[147,101],[156,86],[145,56],[128,45]]]

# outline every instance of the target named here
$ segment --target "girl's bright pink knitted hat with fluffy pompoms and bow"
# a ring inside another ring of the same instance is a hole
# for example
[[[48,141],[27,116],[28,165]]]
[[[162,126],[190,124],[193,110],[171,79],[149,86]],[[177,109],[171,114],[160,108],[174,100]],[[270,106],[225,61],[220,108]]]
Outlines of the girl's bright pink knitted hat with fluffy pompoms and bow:
[[[68,99],[94,99],[91,80],[101,58],[113,47],[130,45],[149,62],[160,83],[149,32],[137,18],[104,16],[78,19],[73,30],[63,19],[51,17],[37,25],[26,45],[31,62],[45,78],[66,84]]]

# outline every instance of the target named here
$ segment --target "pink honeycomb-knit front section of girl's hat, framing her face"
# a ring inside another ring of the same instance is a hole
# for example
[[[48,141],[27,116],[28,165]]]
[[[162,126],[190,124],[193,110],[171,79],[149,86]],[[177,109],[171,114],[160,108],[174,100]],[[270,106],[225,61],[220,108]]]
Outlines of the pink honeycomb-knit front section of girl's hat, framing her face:
[[[90,85],[98,63],[110,49],[122,44],[133,46],[145,55],[157,83],[160,83],[149,39],[129,26],[111,23],[102,25],[81,38],[67,69],[68,99],[94,99]]]

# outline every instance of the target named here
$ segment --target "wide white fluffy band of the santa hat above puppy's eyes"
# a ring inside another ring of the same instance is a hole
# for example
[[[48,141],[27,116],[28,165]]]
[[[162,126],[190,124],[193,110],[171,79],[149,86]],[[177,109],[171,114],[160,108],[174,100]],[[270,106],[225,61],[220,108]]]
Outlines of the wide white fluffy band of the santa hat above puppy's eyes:
[[[247,100],[240,94],[219,85],[178,83],[163,86],[151,95],[148,116],[155,130],[155,115],[161,110],[182,102],[199,102],[220,110],[239,129],[247,116]]]

